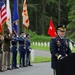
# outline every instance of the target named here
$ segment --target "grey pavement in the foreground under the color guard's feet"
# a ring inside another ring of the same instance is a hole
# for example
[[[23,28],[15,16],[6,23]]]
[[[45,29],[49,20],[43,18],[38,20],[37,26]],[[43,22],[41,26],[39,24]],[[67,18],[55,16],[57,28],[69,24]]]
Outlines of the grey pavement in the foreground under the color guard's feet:
[[[53,75],[51,63],[33,64],[31,67],[0,72],[0,75]]]

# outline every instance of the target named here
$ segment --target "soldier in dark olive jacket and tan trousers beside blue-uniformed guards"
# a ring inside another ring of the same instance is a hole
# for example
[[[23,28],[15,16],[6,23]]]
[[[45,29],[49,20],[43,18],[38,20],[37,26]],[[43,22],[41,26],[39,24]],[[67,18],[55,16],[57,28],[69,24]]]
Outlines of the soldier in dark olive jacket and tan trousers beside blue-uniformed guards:
[[[4,35],[4,46],[3,46],[4,70],[11,70],[10,68],[10,41],[11,41],[10,31],[9,29],[7,29]]]

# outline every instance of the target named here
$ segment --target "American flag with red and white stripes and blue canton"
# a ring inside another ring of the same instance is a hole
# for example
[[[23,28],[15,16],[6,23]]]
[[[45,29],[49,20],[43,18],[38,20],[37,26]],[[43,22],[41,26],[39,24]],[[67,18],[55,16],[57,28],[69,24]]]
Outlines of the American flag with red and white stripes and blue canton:
[[[7,20],[6,6],[4,0],[0,0],[0,24],[3,25],[3,23],[6,20]]]

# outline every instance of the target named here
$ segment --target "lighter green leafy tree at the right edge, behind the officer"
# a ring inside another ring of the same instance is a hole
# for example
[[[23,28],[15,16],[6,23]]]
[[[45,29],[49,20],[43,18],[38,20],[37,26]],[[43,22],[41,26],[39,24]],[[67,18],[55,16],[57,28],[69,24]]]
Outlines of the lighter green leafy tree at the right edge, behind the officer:
[[[68,0],[67,6],[69,7],[68,12],[68,34],[71,34],[70,37],[75,37],[75,0]]]

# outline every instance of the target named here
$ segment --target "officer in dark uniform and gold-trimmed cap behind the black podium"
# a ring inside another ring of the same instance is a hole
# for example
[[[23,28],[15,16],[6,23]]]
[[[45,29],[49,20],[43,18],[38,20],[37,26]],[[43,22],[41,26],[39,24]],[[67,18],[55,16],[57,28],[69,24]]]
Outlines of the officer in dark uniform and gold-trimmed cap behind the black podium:
[[[57,27],[57,36],[50,41],[51,67],[54,75],[58,75],[58,61],[71,54],[67,40],[64,38],[66,26],[61,24]]]

